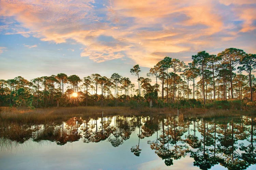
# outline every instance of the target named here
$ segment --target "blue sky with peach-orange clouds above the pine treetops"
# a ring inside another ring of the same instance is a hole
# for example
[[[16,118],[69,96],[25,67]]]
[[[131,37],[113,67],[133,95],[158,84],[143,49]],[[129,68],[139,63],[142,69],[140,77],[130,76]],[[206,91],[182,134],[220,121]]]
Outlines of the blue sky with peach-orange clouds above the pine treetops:
[[[165,56],[256,53],[255,0],[0,0],[0,79],[118,73]],[[152,78],[154,79],[154,78]]]

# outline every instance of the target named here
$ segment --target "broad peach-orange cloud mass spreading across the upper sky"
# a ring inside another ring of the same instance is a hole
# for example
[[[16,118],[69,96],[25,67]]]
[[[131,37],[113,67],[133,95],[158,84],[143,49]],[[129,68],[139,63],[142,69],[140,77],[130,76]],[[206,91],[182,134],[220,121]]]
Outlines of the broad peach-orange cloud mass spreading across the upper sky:
[[[80,56],[95,62],[129,57],[152,67],[163,54],[222,49],[256,29],[253,0],[33,2],[0,2],[4,34],[75,42],[83,46]]]

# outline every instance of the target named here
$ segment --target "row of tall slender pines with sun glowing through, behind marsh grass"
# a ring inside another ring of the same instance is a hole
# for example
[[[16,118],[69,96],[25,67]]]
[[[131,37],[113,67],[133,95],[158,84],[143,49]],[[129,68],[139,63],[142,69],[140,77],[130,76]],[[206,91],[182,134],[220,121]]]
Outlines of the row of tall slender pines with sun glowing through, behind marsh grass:
[[[21,76],[0,80],[0,106],[229,108],[238,103],[238,109],[256,105],[256,54],[229,48],[217,55],[201,51],[191,57],[188,65],[165,57],[146,75],[135,65],[127,71],[136,77],[136,84],[118,73],[109,78],[97,73],[84,78],[59,73],[30,81]]]

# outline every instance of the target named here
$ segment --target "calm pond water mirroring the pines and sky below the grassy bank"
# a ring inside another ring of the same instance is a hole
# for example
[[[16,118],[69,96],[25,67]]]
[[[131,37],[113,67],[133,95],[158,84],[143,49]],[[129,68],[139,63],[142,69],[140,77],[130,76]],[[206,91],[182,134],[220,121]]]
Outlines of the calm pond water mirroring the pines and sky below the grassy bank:
[[[0,169],[256,169],[248,116],[73,117],[0,132]]]

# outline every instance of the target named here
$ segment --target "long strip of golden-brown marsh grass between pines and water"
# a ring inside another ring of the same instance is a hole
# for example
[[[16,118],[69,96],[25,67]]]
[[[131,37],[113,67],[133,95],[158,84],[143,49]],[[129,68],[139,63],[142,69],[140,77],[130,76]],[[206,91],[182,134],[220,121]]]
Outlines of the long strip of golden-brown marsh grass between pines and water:
[[[37,108],[37,109],[16,109],[12,107],[0,107],[0,120],[6,122],[19,123],[44,123],[44,122],[60,122],[71,117],[100,117],[111,115],[141,115],[141,114],[170,114],[177,115],[177,109],[168,108],[148,108],[142,107],[132,109],[130,107],[61,107],[61,108]],[[179,109],[179,114],[187,116],[200,117],[228,117],[238,115],[255,114],[252,111],[238,111],[223,109],[202,109],[189,108]]]

